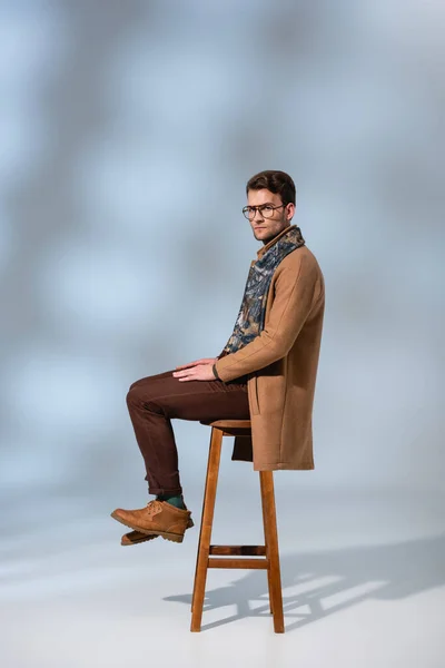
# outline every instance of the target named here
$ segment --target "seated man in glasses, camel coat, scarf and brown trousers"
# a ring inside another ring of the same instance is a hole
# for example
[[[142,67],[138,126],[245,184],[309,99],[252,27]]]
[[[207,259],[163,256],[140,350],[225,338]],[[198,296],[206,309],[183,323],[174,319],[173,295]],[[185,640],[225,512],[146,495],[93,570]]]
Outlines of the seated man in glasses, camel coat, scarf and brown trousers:
[[[288,174],[266,170],[246,186],[243,213],[263,242],[250,264],[234,332],[217,357],[136,381],[127,405],[156,499],[111,517],[132,529],[121,544],[158,536],[181,542],[194,525],[184,503],[170,420],[250,420],[233,460],[254,470],[314,469],[312,413],[325,308],[325,284],[295,214]]]

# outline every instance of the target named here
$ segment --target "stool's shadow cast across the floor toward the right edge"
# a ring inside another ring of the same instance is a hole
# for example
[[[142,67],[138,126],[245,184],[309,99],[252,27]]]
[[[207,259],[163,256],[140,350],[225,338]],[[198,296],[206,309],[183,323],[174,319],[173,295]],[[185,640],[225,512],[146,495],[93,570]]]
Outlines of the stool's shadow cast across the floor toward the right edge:
[[[367,599],[402,599],[445,584],[445,534],[395,544],[281,554],[286,632]],[[246,617],[270,617],[267,576],[248,571],[228,587],[209,588],[208,571],[201,630]],[[234,571],[235,572],[235,571]],[[211,586],[211,584],[210,584]],[[293,589],[286,593],[286,589]],[[191,593],[166,597],[191,605]],[[250,601],[264,605],[250,606]],[[236,605],[237,612],[205,623],[206,611]]]

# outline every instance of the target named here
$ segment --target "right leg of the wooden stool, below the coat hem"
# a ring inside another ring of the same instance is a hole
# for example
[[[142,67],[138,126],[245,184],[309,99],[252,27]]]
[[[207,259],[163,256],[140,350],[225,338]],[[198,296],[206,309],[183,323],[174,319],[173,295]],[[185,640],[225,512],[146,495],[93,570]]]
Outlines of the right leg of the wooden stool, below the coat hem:
[[[267,546],[267,559],[269,587],[271,589],[271,609],[274,616],[274,630],[276,633],[285,632],[283,613],[281,576],[279,569],[277,515],[274,493],[273,471],[259,471],[261,481],[261,501],[265,517],[265,539]]]

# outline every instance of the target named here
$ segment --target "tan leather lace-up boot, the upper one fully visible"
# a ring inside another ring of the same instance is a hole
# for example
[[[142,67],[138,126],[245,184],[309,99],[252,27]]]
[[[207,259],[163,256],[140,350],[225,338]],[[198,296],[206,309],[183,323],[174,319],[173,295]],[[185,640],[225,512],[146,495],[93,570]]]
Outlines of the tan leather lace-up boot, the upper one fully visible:
[[[191,512],[188,509],[176,508],[167,501],[154,499],[145,508],[138,510],[123,510],[117,508],[111,517],[147,536],[161,536],[166,540],[182,542]]]

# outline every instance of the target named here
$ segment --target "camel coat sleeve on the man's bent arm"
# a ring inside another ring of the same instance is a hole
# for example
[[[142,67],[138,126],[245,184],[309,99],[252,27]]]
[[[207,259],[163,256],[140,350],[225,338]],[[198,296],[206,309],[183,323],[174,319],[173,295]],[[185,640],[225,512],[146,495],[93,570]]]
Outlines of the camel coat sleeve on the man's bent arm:
[[[319,274],[307,256],[297,267],[284,263],[276,269],[274,302],[264,330],[244,347],[216,361],[215,367],[221,381],[233,381],[268,366],[285,357],[294,345],[319,296]]]

